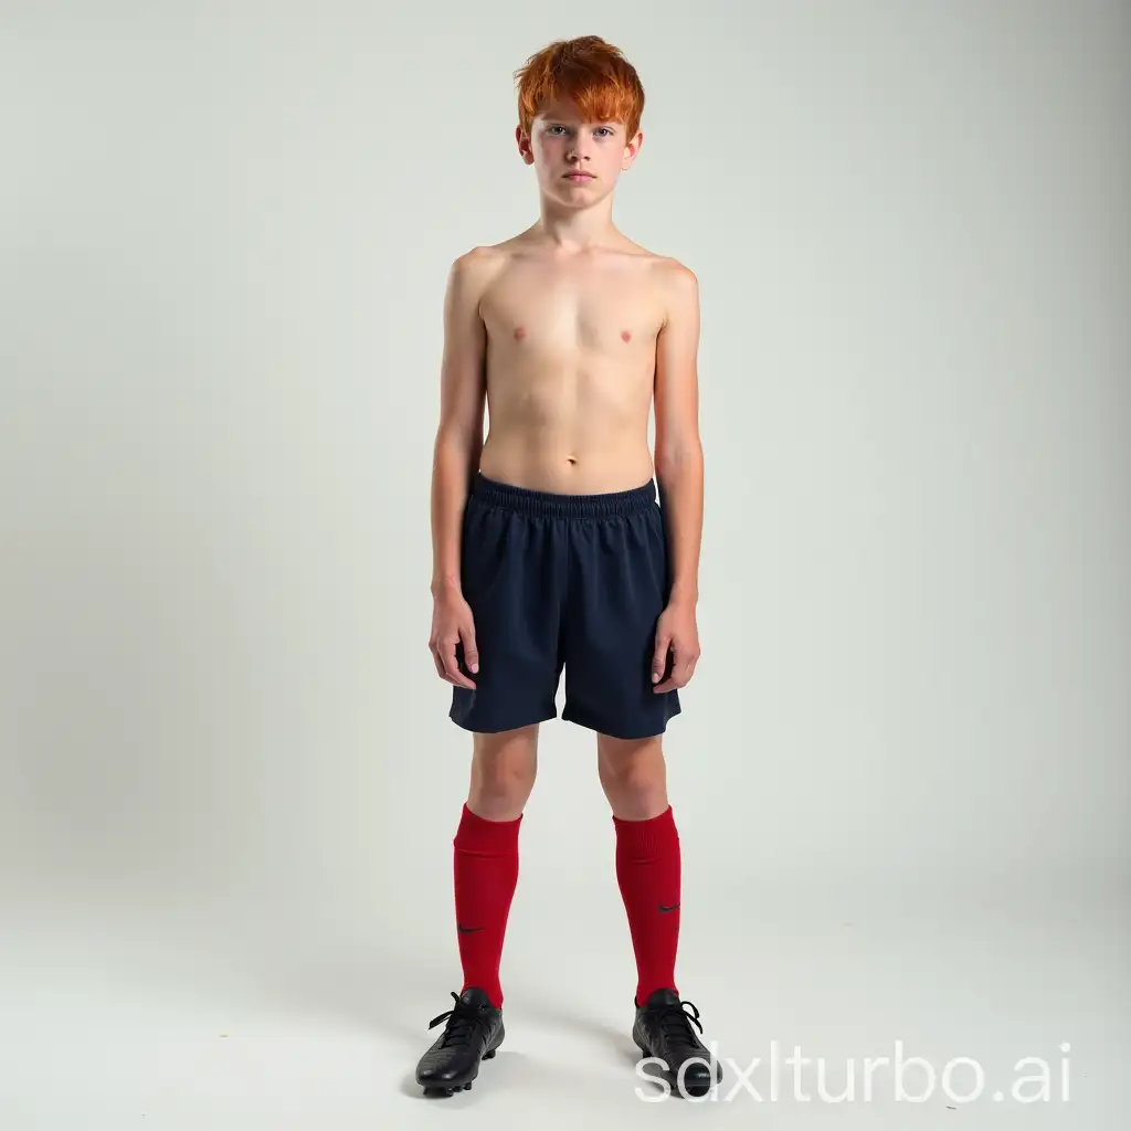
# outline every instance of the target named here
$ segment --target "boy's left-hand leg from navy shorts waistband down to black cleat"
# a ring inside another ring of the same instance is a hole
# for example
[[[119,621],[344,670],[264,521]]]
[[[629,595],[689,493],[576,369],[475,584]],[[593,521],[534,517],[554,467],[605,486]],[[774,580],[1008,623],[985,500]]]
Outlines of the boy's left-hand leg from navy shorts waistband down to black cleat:
[[[460,580],[475,621],[475,687],[450,715],[474,734],[470,787],[452,840],[463,992],[416,1069],[425,1091],[469,1088],[502,1043],[499,964],[518,882],[518,835],[534,785],[538,723],[556,714],[563,544],[535,492],[477,476],[464,512]]]

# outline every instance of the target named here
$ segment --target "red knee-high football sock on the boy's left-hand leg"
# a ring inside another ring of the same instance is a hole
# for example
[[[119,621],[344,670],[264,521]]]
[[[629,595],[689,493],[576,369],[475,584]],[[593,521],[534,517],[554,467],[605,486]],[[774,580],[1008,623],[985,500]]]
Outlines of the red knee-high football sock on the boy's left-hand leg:
[[[502,1007],[499,962],[507,916],[518,884],[518,828],[513,821],[490,821],[464,805],[455,849],[456,927],[464,985],[478,986]]]

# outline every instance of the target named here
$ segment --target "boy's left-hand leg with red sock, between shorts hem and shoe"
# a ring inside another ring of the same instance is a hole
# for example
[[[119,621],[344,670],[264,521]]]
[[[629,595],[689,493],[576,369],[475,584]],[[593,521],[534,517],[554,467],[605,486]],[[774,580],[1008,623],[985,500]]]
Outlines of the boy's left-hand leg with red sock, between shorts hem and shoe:
[[[518,884],[523,810],[534,788],[538,728],[476,734],[470,787],[454,848],[461,993],[477,986],[502,1007],[499,965]]]

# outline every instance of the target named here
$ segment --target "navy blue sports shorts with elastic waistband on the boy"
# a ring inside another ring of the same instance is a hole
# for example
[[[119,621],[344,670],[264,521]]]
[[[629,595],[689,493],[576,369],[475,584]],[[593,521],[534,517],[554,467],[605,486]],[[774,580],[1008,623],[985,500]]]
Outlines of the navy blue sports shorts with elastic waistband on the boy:
[[[654,482],[563,495],[476,476],[463,520],[461,585],[475,619],[475,690],[454,688],[450,717],[498,733],[558,715],[619,739],[662,734],[680,713],[656,693],[656,622],[671,592]],[[665,672],[665,677],[667,672]]]

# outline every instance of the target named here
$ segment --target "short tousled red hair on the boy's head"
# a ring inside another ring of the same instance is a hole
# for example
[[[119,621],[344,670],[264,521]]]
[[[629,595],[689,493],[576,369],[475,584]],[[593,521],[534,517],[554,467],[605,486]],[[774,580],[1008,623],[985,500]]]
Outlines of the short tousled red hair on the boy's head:
[[[620,48],[599,35],[558,40],[515,71],[518,124],[530,132],[535,116],[558,98],[577,104],[586,121],[624,122],[631,138],[644,115],[644,87]]]

